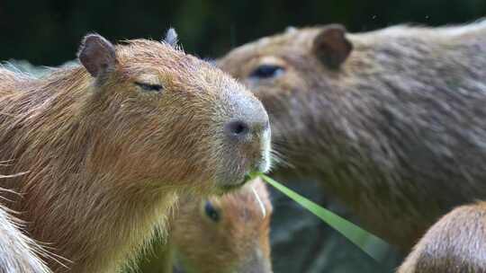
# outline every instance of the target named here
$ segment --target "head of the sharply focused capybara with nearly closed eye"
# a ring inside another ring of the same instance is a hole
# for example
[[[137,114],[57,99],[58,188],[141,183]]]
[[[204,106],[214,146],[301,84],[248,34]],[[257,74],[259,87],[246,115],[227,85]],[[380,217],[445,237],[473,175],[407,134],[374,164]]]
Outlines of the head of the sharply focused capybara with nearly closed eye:
[[[237,188],[248,172],[269,167],[266,110],[229,75],[184,54],[174,36],[118,46],[96,34],[83,40],[78,57],[88,74],[80,75],[94,80],[85,105],[73,107],[103,136],[94,164],[103,170],[120,162],[121,172],[130,165],[137,181],[177,189]]]

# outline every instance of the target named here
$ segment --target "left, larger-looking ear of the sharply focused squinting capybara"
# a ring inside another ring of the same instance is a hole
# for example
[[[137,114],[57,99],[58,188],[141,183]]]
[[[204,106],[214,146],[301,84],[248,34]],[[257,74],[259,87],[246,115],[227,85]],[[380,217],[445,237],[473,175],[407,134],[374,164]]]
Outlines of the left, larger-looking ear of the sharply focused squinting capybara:
[[[112,71],[117,63],[112,43],[98,34],[85,36],[77,57],[87,72],[96,78]]]

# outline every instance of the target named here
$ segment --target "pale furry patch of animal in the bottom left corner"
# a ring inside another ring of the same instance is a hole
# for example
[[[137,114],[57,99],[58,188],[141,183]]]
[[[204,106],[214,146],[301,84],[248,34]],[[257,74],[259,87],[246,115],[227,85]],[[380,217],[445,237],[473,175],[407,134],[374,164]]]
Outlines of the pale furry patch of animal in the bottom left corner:
[[[0,180],[10,178],[0,175]],[[41,256],[49,254],[38,242],[22,233],[23,225],[13,212],[0,206],[0,272],[49,273],[50,270],[40,259]]]

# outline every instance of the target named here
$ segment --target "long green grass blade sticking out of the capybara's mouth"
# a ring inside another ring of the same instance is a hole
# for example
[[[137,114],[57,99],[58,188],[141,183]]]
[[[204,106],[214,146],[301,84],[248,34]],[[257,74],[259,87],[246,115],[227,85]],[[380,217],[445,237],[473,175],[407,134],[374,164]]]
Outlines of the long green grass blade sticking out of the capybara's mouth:
[[[264,181],[268,182],[275,189],[280,190],[284,195],[292,198],[295,202],[299,203],[302,207],[305,207],[315,216],[320,217],[322,221],[330,225],[332,228],[343,234],[347,240],[356,244],[358,248],[378,262],[382,262],[386,256],[387,251],[390,249],[390,245],[384,242],[383,239],[375,236],[372,233],[366,232],[361,227],[347,221],[345,218],[336,215],[329,209],[320,207],[311,200],[302,197],[292,189],[288,189],[281,183],[269,178],[264,174],[254,174],[253,176],[261,176]]]

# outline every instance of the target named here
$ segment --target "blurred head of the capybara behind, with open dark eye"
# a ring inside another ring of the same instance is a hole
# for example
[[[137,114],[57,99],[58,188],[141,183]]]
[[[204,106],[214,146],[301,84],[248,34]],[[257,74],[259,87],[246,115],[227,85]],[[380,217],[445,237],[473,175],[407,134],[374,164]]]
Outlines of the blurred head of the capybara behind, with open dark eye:
[[[353,51],[345,34],[340,25],[290,28],[235,48],[218,61],[223,71],[246,84],[264,103],[277,152],[283,142],[324,130],[316,128],[319,113],[329,111],[329,119],[335,119],[330,113],[334,110],[332,101],[345,94],[334,87],[347,74],[342,68]]]

